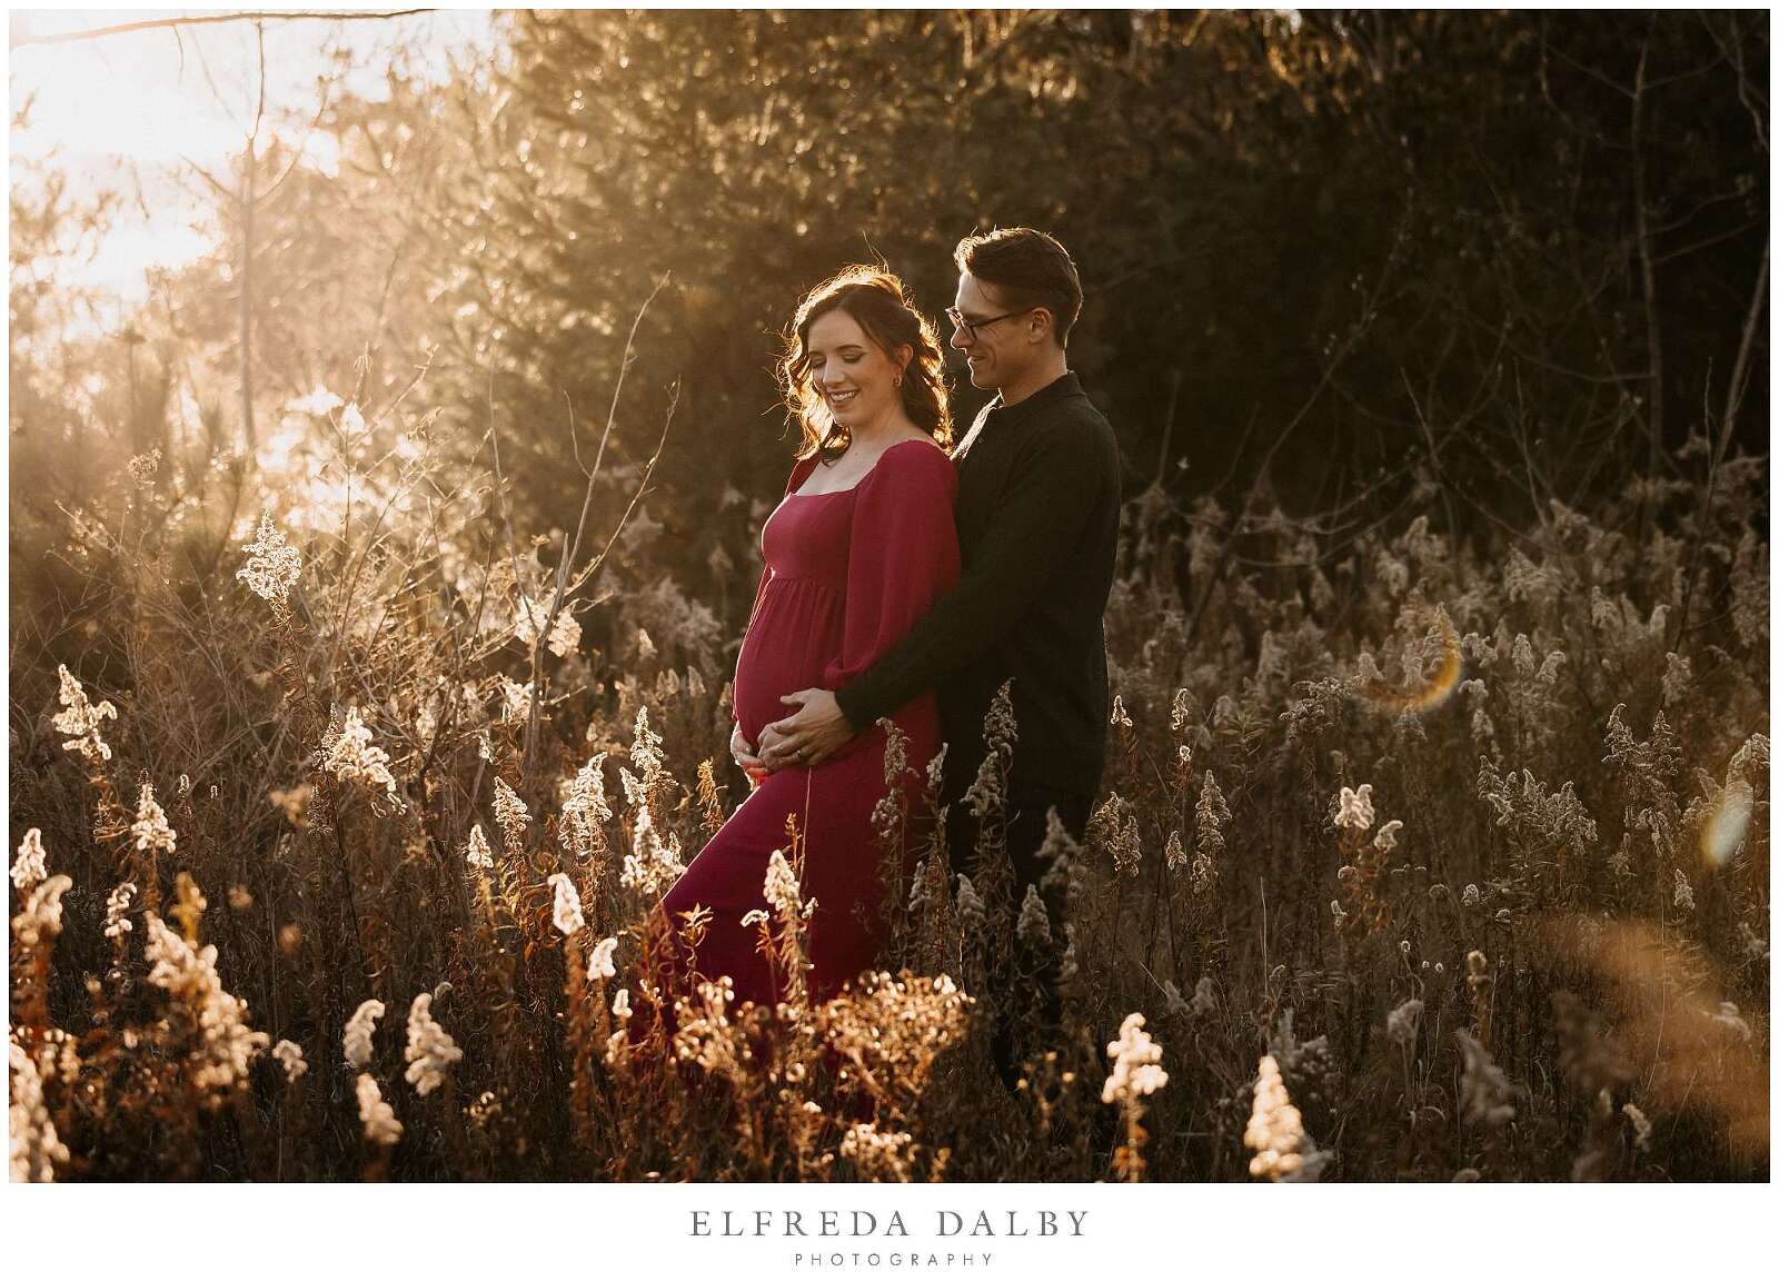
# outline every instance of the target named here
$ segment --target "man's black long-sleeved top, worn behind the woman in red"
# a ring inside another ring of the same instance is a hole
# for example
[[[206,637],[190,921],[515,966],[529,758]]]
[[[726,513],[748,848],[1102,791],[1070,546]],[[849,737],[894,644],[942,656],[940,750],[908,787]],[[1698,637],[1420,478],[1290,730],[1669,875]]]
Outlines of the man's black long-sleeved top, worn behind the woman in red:
[[[1012,785],[1092,795],[1108,717],[1105,607],[1117,555],[1112,425],[1075,374],[1016,406],[993,400],[952,454],[962,578],[836,692],[854,729],[936,689],[946,797],[982,763],[982,717],[1012,678]],[[920,765],[922,761],[911,761]]]

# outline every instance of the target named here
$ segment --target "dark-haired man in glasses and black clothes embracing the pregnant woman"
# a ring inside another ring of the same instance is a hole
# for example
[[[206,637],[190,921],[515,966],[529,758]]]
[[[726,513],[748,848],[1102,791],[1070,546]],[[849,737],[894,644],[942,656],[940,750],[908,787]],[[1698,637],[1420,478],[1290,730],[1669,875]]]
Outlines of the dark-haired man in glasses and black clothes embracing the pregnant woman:
[[[954,258],[952,345],[970,361],[971,384],[998,393],[952,454],[957,589],[854,683],[788,696],[797,712],[767,726],[758,756],[744,742],[735,749],[749,772],[815,765],[936,689],[948,744],[941,794],[950,806],[948,847],[954,865],[968,868],[975,822],[962,795],[986,753],[982,719],[1010,680],[1019,738],[1009,770],[1007,852],[1018,907],[1025,886],[1046,872],[1037,852],[1050,810],[1080,840],[1099,786],[1119,454],[1110,423],[1069,372],[1082,285],[1067,251],[1042,231],[1005,228],[966,237]],[[1060,922],[1062,902],[1051,898],[1050,909]],[[1048,970],[1044,1003],[1053,1019],[1053,957]],[[1003,1062],[1003,1075],[1009,1068],[1016,1064]]]

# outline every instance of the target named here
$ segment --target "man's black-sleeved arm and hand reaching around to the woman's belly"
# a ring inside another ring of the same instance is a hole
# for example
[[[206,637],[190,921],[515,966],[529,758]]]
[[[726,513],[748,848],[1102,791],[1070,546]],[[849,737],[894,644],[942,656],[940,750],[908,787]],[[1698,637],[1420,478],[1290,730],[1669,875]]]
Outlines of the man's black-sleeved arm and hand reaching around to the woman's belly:
[[[1064,423],[1023,461],[957,589],[838,694],[799,690],[801,710],[760,737],[769,763],[818,761],[857,729],[938,687],[980,657],[1032,607],[1099,502],[1105,464],[1092,429]],[[1091,482],[1087,480],[1091,479]]]

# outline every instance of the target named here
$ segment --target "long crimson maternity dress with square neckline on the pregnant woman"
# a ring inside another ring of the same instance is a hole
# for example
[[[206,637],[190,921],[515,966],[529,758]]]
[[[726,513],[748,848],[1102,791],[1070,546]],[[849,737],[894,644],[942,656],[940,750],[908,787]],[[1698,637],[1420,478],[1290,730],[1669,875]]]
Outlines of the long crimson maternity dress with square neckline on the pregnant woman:
[[[735,667],[735,719],[754,744],[767,724],[795,712],[779,703],[783,694],[843,687],[957,582],[957,477],[943,450],[925,439],[900,441],[852,489],[795,493],[813,470],[813,459],[797,463],[761,532],[767,568]],[[927,692],[893,719],[909,738],[904,788],[913,797],[939,751],[938,701]],[[742,918],[767,909],[767,861],[772,850],[790,858],[785,820],[795,817],[804,834],[802,898],[817,900],[808,927],[811,995],[825,998],[872,968],[882,893],[872,808],[884,792],[881,726],[815,769],[770,774],[662,900],[674,927],[680,913],[699,904],[710,909],[696,957],[660,959],[681,977],[688,961],[706,979],[729,975],[737,1003],[783,998],[781,980],[774,982],[756,952],[758,927],[744,927]],[[656,947],[685,950],[660,932]]]

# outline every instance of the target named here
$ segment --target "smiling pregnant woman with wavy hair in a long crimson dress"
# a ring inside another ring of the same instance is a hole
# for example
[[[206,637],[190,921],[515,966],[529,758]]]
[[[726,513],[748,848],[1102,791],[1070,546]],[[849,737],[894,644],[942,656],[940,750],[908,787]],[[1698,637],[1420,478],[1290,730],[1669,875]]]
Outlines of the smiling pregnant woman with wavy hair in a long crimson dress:
[[[785,715],[781,697],[840,689],[907,632],[957,582],[952,523],[955,475],[950,411],[932,326],[902,281],[850,267],[797,308],[779,374],[802,427],[785,500],[761,532],[765,573],[735,669],[735,753],[756,788],[667,891],[655,948],[674,984],[696,970],[728,975],[737,1002],[777,1002],[783,975],[758,952],[763,884],[774,850],[802,834],[802,898],[811,995],[820,1000],[877,957],[879,852],[872,808],[886,794],[882,726],[813,769],[767,772],[760,731]],[[939,751],[932,692],[900,708],[907,735],[904,790]],[[678,934],[687,913],[710,913],[696,950]]]

